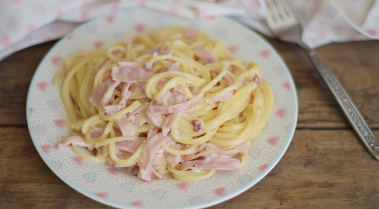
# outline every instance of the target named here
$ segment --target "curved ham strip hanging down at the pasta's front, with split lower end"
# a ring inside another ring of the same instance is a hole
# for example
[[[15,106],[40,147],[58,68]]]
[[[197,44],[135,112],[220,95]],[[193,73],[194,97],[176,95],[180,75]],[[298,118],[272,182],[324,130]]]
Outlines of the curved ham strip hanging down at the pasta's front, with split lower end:
[[[148,142],[146,143],[145,148],[142,150],[141,157],[138,161],[139,177],[141,179],[151,181],[151,173],[156,175],[158,178],[161,178],[161,175],[159,175],[153,168],[152,163],[154,157],[157,153],[159,153],[162,145],[171,145],[174,143],[175,141],[171,136],[164,136],[162,133],[157,133],[148,139]]]

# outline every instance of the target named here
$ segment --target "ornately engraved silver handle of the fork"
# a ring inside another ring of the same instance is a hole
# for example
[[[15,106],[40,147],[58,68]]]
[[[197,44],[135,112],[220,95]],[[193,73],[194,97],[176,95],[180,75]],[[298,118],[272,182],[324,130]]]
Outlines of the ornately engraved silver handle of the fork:
[[[342,111],[349,120],[351,126],[353,126],[364,146],[371,153],[372,157],[379,161],[379,142],[372,133],[371,128],[364,121],[361,113],[347,94],[344,87],[313,49],[304,45],[302,45],[302,48],[313,66],[317,69],[318,74],[321,76],[326,86],[336,98]]]

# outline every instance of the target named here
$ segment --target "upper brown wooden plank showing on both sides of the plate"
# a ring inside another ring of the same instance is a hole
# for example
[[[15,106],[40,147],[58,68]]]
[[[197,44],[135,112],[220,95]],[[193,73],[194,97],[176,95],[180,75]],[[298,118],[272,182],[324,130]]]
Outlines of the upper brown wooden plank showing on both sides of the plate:
[[[289,66],[299,96],[298,127],[350,128],[311,63],[295,45],[268,38]],[[16,52],[0,62],[0,125],[25,126],[26,93],[31,77],[55,42]],[[335,43],[316,51],[346,87],[371,127],[379,128],[379,41]],[[20,73],[15,73],[20,72]],[[9,108],[12,106],[12,108]]]

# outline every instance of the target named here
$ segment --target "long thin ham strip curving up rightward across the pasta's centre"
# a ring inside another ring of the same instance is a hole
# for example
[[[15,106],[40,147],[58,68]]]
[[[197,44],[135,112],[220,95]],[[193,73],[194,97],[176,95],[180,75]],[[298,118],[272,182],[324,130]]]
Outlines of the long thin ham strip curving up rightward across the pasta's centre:
[[[200,93],[186,102],[173,104],[173,105],[150,105],[149,110],[153,114],[167,114],[167,113],[185,111],[189,107],[198,103],[203,98],[203,96],[204,96],[204,93]]]

